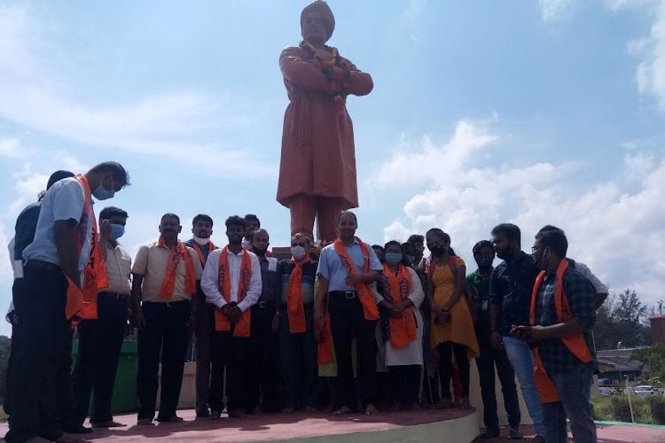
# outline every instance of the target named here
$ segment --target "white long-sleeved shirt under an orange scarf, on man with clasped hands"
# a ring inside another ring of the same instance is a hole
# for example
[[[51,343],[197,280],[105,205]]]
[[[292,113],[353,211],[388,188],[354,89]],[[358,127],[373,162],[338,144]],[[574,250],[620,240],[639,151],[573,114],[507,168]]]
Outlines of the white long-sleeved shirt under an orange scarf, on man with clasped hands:
[[[220,308],[226,305],[226,300],[222,297],[219,287],[219,256],[222,251],[222,249],[215,249],[215,251],[208,254],[206,268],[203,269],[203,275],[201,276],[201,289],[206,294],[207,302]],[[249,254],[252,262],[252,277],[249,281],[249,288],[247,288],[245,299],[238,303],[240,264],[242,263],[244,253]],[[240,310],[245,312],[254,306],[261,297],[261,265],[254,253],[246,252],[245,250],[240,251],[239,254],[234,254],[231,253],[230,249],[227,249],[226,254],[229,258],[229,274],[231,278],[231,294],[229,294],[229,299],[238,303]]]

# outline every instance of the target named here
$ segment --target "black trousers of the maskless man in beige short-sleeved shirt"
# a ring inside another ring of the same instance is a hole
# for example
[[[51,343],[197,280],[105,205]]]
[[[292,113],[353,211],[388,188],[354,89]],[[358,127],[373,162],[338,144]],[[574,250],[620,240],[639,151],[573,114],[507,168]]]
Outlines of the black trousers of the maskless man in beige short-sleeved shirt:
[[[158,420],[176,415],[183,384],[184,351],[187,348],[189,301],[142,305],[145,327],[138,330],[138,419],[153,420],[161,354],[161,393]]]

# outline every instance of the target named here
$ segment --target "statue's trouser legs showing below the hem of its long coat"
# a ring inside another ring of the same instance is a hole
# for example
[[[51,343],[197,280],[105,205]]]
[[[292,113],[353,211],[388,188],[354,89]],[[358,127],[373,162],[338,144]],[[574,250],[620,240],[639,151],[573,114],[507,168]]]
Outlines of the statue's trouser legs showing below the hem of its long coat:
[[[301,232],[314,239],[314,218],[317,217],[318,239],[332,241],[339,237],[337,217],[344,207],[340,198],[314,197],[299,194],[290,199],[291,235]]]

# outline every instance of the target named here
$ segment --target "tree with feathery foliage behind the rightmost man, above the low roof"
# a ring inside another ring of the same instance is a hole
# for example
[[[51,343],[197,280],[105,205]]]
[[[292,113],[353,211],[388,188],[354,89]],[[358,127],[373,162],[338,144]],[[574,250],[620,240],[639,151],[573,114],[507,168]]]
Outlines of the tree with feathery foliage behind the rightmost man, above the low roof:
[[[593,327],[596,349],[615,349],[619,342],[624,347],[648,345],[651,334],[645,324],[647,313],[648,306],[636,291],[626,289],[618,295],[610,294],[596,311]]]

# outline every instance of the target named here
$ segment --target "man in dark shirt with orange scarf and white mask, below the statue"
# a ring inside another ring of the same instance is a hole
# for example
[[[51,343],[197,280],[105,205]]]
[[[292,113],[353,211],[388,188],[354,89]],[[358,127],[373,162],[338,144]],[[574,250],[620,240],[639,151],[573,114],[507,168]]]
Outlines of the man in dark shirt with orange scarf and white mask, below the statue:
[[[314,337],[314,281],[318,261],[310,260],[311,241],[291,237],[291,259],[281,260],[279,353],[286,385],[287,410],[317,407],[317,340]]]

